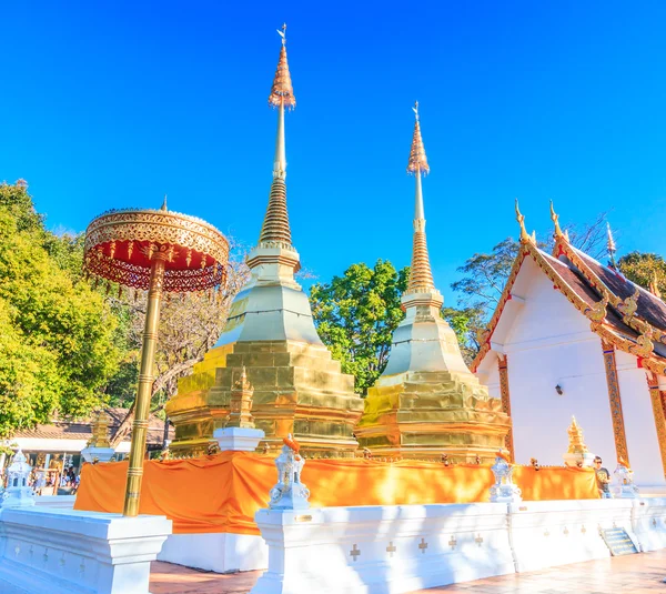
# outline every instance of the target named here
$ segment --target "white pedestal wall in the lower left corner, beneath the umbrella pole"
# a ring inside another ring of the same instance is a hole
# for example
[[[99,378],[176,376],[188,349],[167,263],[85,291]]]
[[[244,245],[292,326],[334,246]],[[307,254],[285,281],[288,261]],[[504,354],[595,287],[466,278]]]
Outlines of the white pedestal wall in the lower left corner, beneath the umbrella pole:
[[[157,515],[1,509],[0,592],[148,594],[150,562],[170,533]]]

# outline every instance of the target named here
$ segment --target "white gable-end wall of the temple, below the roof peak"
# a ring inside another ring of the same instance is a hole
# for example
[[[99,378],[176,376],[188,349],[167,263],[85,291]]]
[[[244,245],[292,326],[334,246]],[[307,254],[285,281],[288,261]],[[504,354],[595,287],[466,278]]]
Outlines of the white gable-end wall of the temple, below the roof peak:
[[[525,293],[519,296],[525,301],[506,335],[496,336],[508,356],[516,462],[526,464],[536,457],[539,464],[562,465],[572,415],[591,451],[614,456],[601,340],[532,261],[525,262],[523,274],[532,275],[521,283]]]

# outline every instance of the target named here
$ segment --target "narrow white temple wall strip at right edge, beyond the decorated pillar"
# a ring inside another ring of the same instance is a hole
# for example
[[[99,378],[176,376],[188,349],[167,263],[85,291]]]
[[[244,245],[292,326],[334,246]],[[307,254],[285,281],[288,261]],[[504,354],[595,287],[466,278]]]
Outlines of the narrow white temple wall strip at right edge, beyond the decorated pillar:
[[[666,481],[645,370],[637,366],[635,356],[620,351],[615,353],[615,361],[634,480],[638,485],[664,485]],[[613,471],[615,452],[606,454],[605,462]]]

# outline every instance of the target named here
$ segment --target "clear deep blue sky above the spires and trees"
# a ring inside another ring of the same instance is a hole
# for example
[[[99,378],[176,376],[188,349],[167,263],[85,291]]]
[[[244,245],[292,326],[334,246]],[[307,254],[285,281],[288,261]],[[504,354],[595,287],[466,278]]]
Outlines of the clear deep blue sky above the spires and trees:
[[[321,281],[410,261],[415,99],[436,284],[528,229],[610,211],[619,251],[664,253],[666,3],[3,2],[0,180],[53,229],[120,207],[195,214],[253,244],[268,201],[266,105],[289,26],[294,244]]]

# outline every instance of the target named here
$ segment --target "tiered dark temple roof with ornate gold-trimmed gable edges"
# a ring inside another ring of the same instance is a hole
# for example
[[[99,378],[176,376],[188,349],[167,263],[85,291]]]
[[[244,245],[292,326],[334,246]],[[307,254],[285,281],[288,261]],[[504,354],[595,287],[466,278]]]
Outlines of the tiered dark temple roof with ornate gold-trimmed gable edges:
[[[513,285],[526,258],[589,320],[593,332],[617,350],[636,356],[642,366],[666,374],[666,304],[615,269],[575,249],[566,234],[556,235],[553,255],[541,250],[531,238],[521,240],[498,305],[487,328],[480,333],[481,349],[472,362],[472,371],[478,369],[492,350],[493,333],[506,302],[512,299]]]

